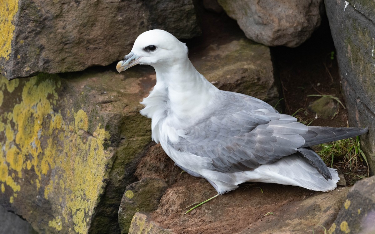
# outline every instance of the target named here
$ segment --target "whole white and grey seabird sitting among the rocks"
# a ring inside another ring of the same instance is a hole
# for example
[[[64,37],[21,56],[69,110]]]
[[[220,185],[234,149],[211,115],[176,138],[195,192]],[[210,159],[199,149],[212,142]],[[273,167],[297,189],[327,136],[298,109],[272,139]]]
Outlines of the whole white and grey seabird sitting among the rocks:
[[[217,89],[193,67],[187,51],[172,34],[150,30],[117,64],[118,72],[136,64],[154,67],[156,85],[140,113],[152,119],[152,139],[176,165],[207,179],[218,194],[246,181],[336,188],[337,171],[310,146],[367,128],[308,127],[262,100]]]

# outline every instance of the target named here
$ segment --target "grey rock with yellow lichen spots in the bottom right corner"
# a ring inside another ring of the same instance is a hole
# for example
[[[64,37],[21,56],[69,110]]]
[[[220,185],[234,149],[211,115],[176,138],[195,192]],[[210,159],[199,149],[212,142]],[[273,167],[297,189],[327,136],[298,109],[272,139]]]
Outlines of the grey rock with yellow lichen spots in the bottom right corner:
[[[357,181],[342,204],[329,234],[375,233],[375,176]]]

